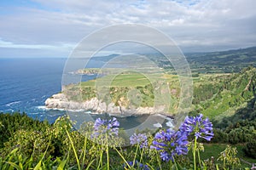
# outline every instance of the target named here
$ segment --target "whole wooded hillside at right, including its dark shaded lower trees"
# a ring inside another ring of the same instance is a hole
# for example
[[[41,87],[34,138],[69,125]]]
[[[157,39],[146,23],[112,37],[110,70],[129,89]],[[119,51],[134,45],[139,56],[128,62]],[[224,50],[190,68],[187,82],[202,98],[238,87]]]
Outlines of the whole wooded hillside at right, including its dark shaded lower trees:
[[[213,143],[244,144],[244,153],[256,158],[256,69],[207,77],[195,82],[194,109],[213,122]]]

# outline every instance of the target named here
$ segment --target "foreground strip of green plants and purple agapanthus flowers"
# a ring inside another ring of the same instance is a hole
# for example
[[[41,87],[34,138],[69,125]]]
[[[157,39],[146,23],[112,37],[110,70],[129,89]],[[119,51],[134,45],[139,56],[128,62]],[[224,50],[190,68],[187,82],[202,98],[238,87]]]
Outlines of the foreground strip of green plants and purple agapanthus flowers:
[[[177,132],[137,132],[128,145],[114,118],[76,131],[68,117],[49,124],[20,113],[0,116],[0,169],[239,169],[256,161],[244,156],[246,143],[209,144],[219,134],[201,116],[188,117]]]

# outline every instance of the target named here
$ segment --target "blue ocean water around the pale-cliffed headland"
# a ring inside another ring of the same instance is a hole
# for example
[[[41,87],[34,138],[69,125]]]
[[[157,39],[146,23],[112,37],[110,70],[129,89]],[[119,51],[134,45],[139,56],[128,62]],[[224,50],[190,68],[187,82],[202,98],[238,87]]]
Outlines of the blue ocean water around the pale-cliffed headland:
[[[61,77],[66,59],[0,59],[0,112],[26,112],[28,116],[40,121],[55,122],[56,118],[66,114],[66,111],[49,110],[44,101],[53,94],[61,92]],[[88,67],[101,67],[104,61],[90,60]],[[96,75],[83,76],[82,81],[96,78]],[[86,112],[88,114],[88,111]],[[79,114],[84,114],[79,113]],[[89,114],[109,119],[108,114]],[[151,125],[158,123],[162,116],[156,116]],[[120,126],[137,127],[148,116],[118,117]],[[167,121],[167,117],[165,117]],[[153,123],[153,124],[152,124]]]

